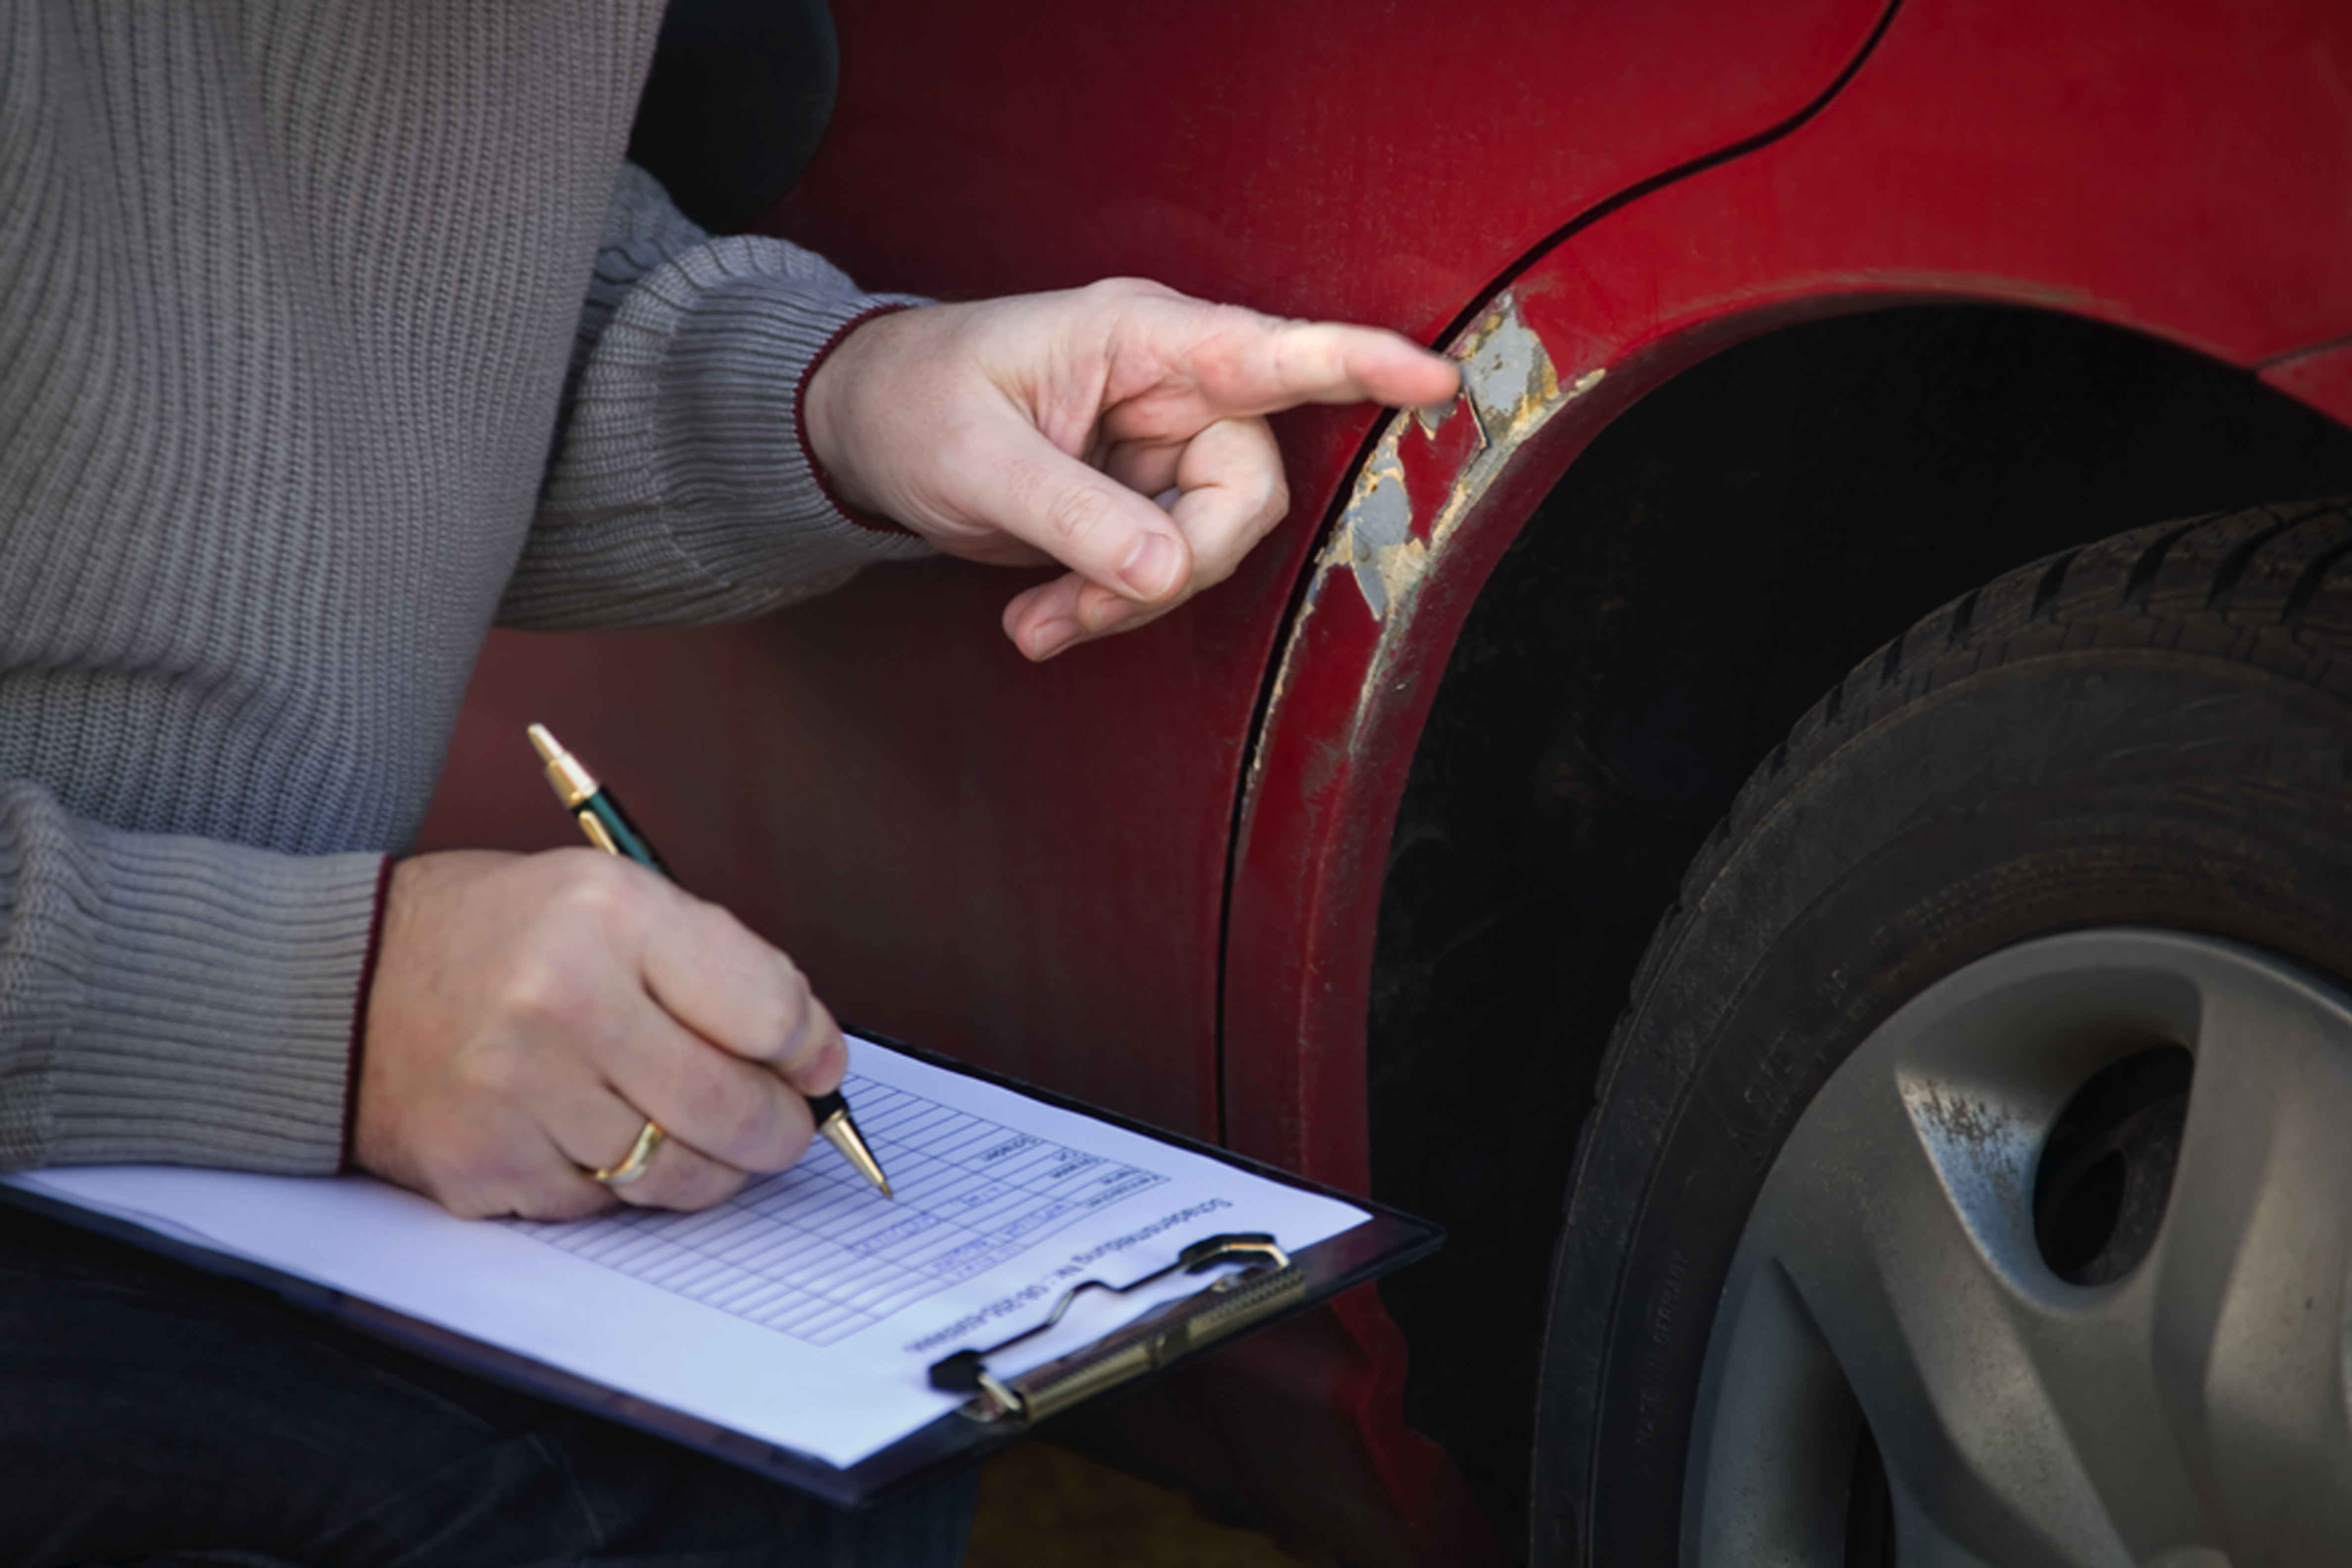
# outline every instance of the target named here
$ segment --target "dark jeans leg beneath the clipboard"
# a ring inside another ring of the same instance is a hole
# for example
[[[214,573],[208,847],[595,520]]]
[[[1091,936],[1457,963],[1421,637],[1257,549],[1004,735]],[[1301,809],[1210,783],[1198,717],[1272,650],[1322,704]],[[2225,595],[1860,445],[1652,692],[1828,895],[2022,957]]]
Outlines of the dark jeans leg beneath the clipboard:
[[[844,1514],[0,1206],[0,1563],[953,1568],[971,1495]]]

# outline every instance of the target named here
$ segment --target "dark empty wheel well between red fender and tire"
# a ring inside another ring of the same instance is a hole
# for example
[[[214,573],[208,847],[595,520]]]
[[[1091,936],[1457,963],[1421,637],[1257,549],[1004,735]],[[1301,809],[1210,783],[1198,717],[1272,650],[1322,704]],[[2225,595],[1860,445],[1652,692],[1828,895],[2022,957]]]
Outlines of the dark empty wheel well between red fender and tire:
[[[1905,308],[1708,360],[1611,425],[1496,569],[1390,844],[1374,1192],[1446,1225],[1383,1298],[1406,1413],[1526,1502],[1552,1239],[1599,1053],[1705,835],[1870,649],[2051,550],[2352,494],[2352,433],[2074,317]],[[1797,611],[1797,614],[1792,614]]]

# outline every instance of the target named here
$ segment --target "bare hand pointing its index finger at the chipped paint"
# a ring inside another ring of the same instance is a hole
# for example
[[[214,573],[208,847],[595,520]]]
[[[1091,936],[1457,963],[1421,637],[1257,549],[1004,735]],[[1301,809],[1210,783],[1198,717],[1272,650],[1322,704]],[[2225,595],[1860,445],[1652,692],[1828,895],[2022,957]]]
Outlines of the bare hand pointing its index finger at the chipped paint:
[[[1014,646],[1051,658],[1225,581],[1282,520],[1265,414],[1423,407],[1458,386],[1392,331],[1110,280],[863,322],[809,378],[804,416],[851,505],[948,555],[1070,567],[1004,609]]]

